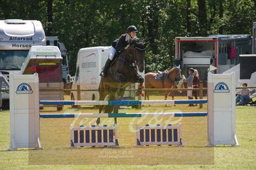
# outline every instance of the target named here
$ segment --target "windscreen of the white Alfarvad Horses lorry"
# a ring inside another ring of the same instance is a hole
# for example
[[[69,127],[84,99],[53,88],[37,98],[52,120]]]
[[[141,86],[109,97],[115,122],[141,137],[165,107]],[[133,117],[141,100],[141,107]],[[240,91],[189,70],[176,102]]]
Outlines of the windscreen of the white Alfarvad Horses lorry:
[[[28,55],[28,50],[14,51],[6,50],[0,51],[0,69],[5,70],[19,70]]]

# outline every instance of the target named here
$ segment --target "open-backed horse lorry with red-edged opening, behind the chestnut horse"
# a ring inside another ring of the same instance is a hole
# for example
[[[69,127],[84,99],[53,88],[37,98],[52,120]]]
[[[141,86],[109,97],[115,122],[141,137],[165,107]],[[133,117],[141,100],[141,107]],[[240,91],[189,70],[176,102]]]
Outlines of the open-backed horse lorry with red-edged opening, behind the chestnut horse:
[[[197,69],[200,80],[206,82],[210,65],[217,68],[214,73],[223,73],[239,64],[240,54],[251,53],[251,45],[249,34],[176,37],[175,64],[180,65],[186,77],[190,67]]]

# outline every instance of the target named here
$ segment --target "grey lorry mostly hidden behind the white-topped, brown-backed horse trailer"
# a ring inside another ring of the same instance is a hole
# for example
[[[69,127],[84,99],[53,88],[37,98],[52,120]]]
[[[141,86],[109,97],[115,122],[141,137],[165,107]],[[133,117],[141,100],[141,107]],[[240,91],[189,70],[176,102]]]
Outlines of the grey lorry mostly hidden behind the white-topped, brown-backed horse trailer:
[[[70,57],[67,55],[67,49],[64,43],[61,43],[59,41],[58,36],[46,36],[46,45],[58,46],[58,48],[60,49],[62,56],[62,81],[66,83],[68,74],[70,74],[68,66],[70,62]]]

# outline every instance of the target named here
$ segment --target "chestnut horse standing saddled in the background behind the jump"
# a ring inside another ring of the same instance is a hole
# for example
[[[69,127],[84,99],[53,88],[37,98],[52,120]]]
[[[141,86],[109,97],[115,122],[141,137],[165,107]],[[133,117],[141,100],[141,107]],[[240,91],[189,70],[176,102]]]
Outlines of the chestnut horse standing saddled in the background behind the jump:
[[[167,74],[164,76],[163,80],[156,80],[156,74],[157,73],[147,73],[145,74],[145,89],[172,89],[175,86],[175,79],[181,78],[180,74],[180,68],[179,67],[173,67],[170,69]],[[167,99],[168,92],[166,91],[164,94],[164,100]],[[172,100],[174,99],[173,91],[170,92],[172,96]],[[145,99],[149,100],[148,97],[148,91],[145,91]]]

